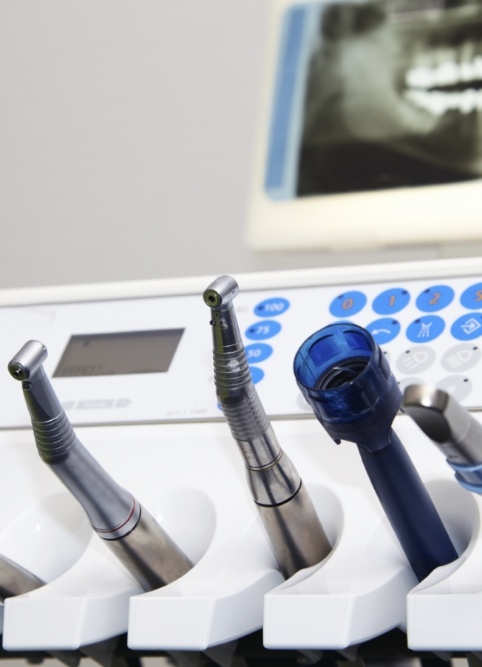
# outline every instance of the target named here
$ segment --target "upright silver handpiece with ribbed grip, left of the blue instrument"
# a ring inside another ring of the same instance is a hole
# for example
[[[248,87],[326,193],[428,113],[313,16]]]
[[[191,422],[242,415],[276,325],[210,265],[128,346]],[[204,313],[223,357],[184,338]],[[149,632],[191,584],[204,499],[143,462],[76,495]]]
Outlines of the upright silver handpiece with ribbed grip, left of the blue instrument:
[[[330,544],[294,465],[281,449],[251,379],[233,299],[236,281],[220,276],[204,292],[211,309],[219,404],[243,456],[248,486],[286,577],[315,565]]]

